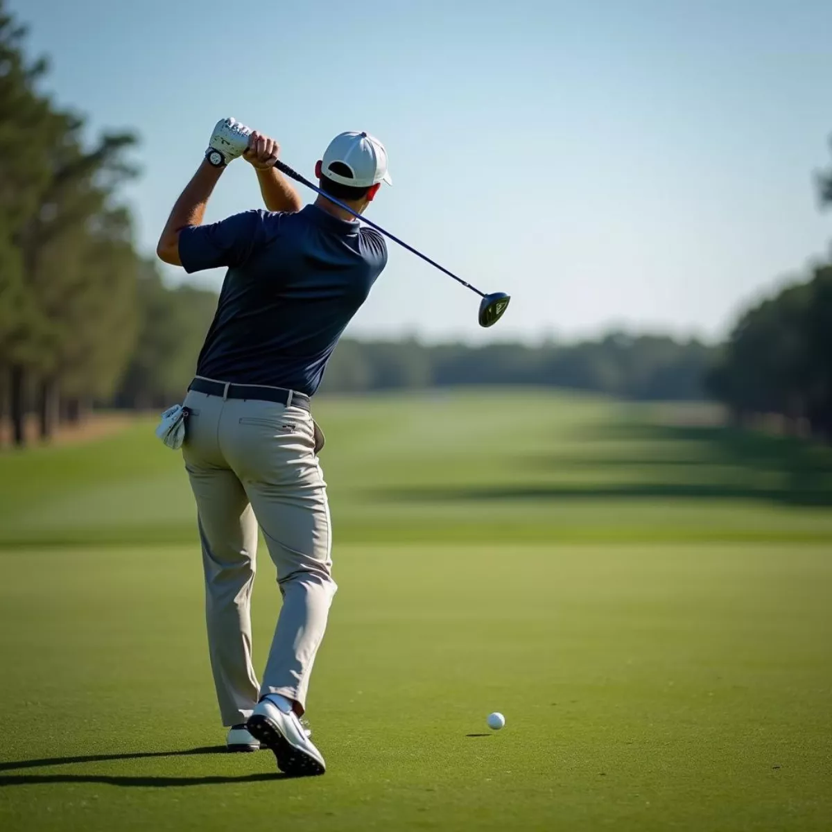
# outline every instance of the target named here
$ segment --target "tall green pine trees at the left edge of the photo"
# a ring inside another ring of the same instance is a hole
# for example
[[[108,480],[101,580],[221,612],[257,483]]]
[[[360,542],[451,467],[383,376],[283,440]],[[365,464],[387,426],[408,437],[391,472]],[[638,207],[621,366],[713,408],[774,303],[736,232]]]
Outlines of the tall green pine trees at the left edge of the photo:
[[[37,404],[40,431],[106,399],[139,321],[131,216],[118,199],[136,176],[136,137],[84,141],[85,120],[40,92],[43,59],[0,2],[0,396],[22,443]]]

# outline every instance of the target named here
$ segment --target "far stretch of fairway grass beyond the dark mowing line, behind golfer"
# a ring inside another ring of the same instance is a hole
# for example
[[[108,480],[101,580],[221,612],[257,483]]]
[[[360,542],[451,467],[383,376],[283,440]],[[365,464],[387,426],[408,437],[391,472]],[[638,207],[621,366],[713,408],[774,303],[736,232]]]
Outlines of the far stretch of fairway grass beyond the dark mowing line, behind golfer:
[[[830,449],[668,423],[676,409],[474,391],[315,414],[339,542],[832,542]],[[191,542],[154,426],[0,455],[0,547]]]

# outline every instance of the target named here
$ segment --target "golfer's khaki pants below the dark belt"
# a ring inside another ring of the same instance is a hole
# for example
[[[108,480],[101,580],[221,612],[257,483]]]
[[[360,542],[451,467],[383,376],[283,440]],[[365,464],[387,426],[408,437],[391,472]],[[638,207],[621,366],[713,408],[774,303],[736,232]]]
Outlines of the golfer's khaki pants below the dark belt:
[[[189,391],[182,453],[196,497],[210,664],[226,726],[280,693],[305,710],[314,657],[337,589],[323,445],[311,414],[255,399]],[[257,527],[283,597],[262,685],[251,663]]]

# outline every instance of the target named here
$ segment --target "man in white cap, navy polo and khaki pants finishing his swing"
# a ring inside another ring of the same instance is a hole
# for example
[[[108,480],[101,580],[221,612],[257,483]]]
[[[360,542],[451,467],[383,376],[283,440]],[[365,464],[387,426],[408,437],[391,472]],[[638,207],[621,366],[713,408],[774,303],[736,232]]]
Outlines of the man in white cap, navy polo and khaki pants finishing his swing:
[[[232,750],[265,745],[288,775],[324,773],[300,722],[336,585],[324,437],[310,397],[344,328],[387,263],[384,237],[319,196],[302,207],[275,168],[275,141],[220,121],[182,191],[157,254],[191,273],[228,271],[185,400],[182,446],[196,498],[210,664]],[[225,166],[254,166],[269,210],[202,225]],[[319,188],[362,213],[390,182],[367,133],[336,136],[315,166]],[[251,662],[250,599],[258,524],[283,606],[262,683]]]

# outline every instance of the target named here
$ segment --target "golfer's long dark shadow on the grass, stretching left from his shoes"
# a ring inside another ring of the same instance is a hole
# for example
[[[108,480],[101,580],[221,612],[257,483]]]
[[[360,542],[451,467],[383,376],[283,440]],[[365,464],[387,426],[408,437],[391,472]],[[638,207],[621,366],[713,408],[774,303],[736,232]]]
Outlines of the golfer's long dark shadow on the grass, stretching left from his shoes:
[[[101,763],[109,760],[146,760],[154,757],[187,757],[206,754],[228,754],[225,745],[209,745],[204,748],[190,748],[181,751],[137,751],[133,754],[90,754],[75,757],[45,757],[39,760],[17,760],[0,763],[0,771],[39,769],[47,765],[71,765],[83,763]],[[166,786],[184,785],[218,785],[222,783],[256,783],[261,780],[285,780],[287,775],[259,773],[227,777],[224,775],[206,775],[202,777],[163,777],[163,776],[129,776],[129,775],[0,775],[0,788],[10,785],[35,785],[47,783],[103,783],[105,785],[145,786],[164,788]]]

